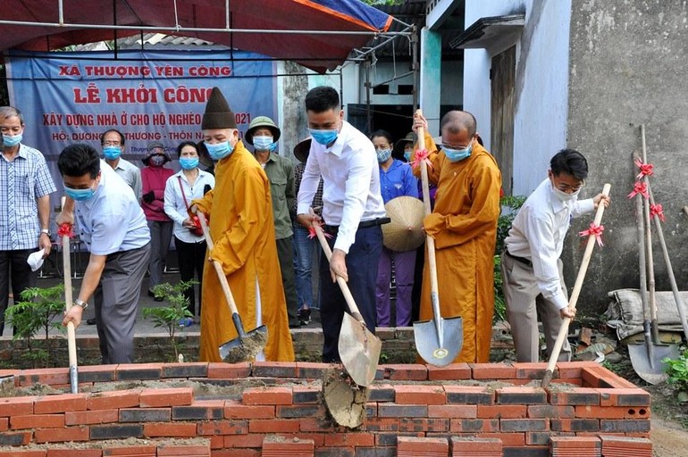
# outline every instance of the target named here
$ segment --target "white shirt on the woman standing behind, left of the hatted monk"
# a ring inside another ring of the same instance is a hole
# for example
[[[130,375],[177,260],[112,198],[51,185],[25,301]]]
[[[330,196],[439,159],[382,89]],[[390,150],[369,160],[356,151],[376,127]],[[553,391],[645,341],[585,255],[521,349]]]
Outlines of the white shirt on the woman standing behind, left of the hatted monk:
[[[164,212],[174,221],[174,228],[172,233],[184,243],[198,243],[203,241],[204,237],[197,237],[189,228],[184,227],[181,223],[185,219],[189,219],[189,212],[187,206],[184,204],[184,197],[181,195],[181,185],[184,187],[184,195],[187,197],[187,203],[191,205],[191,201],[203,196],[206,185],[210,188],[215,187],[215,177],[207,171],[198,169],[198,176],[194,181],[194,185],[189,185],[189,179],[184,174],[183,170],[173,174],[167,179],[164,186]]]

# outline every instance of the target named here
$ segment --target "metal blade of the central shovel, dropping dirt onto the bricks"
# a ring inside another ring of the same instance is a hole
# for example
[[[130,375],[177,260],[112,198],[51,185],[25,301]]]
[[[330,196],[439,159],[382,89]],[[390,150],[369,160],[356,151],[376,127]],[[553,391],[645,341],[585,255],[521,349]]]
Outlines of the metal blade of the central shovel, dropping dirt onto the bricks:
[[[348,312],[341,321],[340,342],[341,363],[358,386],[369,386],[375,378],[380,360],[382,341],[361,325]]]

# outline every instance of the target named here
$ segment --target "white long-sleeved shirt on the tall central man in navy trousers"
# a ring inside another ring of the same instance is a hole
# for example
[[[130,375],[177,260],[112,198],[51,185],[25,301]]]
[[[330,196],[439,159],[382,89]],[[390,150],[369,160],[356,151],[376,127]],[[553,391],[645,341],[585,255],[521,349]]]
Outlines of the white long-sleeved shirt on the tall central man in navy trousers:
[[[340,226],[335,249],[348,253],[358,224],[386,217],[380,194],[380,167],[373,143],[346,120],[331,147],[311,142],[298,190],[298,214],[307,214],[323,177],[323,219]]]

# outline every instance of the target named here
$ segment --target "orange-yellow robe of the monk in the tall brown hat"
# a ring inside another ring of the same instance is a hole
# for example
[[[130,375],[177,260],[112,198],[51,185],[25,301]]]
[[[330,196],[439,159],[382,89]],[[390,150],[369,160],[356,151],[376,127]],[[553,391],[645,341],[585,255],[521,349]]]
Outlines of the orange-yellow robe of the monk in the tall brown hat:
[[[267,327],[265,359],[293,361],[287,305],[281,285],[273,223],[270,181],[239,141],[234,152],[215,165],[215,187],[194,200],[210,218],[214,250],[222,262],[244,329],[256,328],[256,278],[263,324]],[[200,360],[222,361],[218,347],[237,337],[231,312],[213,265],[203,271]]]

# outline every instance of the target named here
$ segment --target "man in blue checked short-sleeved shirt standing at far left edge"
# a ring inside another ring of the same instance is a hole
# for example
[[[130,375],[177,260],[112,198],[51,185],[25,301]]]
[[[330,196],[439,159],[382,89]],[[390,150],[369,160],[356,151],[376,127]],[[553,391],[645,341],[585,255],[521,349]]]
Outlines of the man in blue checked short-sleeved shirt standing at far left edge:
[[[10,280],[14,302],[21,292],[36,286],[36,273],[26,262],[37,247],[50,253],[50,194],[55,183],[40,151],[21,144],[21,112],[0,107],[3,158],[0,160],[0,337],[9,302]],[[12,271],[12,273],[10,273]]]

